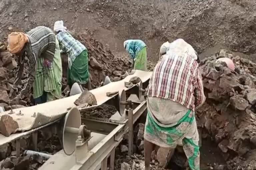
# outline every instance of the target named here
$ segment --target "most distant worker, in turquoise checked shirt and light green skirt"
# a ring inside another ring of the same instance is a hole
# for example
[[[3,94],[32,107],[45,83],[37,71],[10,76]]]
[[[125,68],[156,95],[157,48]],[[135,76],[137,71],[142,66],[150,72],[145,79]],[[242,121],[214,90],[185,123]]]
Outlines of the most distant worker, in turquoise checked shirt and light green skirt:
[[[141,40],[126,40],[124,48],[133,60],[134,69],[147,71],[147,45]]]

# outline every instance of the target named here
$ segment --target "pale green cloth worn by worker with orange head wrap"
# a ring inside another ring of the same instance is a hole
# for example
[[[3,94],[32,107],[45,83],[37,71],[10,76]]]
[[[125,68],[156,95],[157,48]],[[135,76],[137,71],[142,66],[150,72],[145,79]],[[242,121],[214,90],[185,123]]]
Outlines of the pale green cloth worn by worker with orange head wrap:
[[[43,57],[39,57],[37,60],[35,81],[33,83],[33,98],[38,98],[42,96],[44,92],[47,92],[47,101],[60,99],[62,65],[60,47],[57,39],[52,65],[49,68],[44,67],[43,62]]]

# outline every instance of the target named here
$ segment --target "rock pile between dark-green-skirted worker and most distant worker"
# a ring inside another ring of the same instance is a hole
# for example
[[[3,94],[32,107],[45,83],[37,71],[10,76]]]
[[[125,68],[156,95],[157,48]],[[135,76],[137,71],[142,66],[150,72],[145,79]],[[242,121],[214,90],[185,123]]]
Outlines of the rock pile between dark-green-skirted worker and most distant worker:
[[[94,88],[109,76],[111,81],[121,80],[121,76],[131,68],[131,60],[115,56],[110,49],[92,38],[88,34],[74,34],[74,37],[83,43],[88,49],[89,72],[92,76],[92,85]]]

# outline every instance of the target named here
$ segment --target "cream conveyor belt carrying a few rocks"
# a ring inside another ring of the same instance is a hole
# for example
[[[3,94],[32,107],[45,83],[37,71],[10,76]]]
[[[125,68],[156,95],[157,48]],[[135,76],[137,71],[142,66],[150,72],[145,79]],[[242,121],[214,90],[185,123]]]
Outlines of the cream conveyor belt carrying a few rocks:
[[[112,97],[106,96],[107,92],[122,91],[123,89],[128,90],[128,88],[124,86],[124,82],[129,81],[131,77],[138,76],[142,80],[142,82],[146,82],[147,80],[149,80],[151,74],[152,72],[136,70],[133,75],[129,75],[121,81],[112,82],[110,84],[99,87],[97,89],[93,89],[90,92],[95,95],[97,104],[98,104],[97,106],[99,106],[112,98]],[[18,113],[19,111],[21,111],[24,114],[23,116],[18,116],[16,114],[12,114],[10,116],[12,116],[15,121],[17,121],[19,125],[18,131],[26,131],[26,132],[15,133],[9,137],[5,137],[2,134],[0,134],[0,145],[4,143],[8,143],[12,140],[15,140],[23,135],[32,133],[34,130],[31,130],[31,129],[35,129],[35,128],[38,129],[43,125],[47,125],[51,122],[54,122],[60,119],[63,115],[67,113],[68,108],[75,106],[74,101],[79,96],[80,94],[55,100],[52,102],[47,102],[47,103],[36,105],[36,106],[13,110],[15,113]],[[97,106],[92,106],[92,107],[97,107]],[[92,107],[88,107],[88,108],[92,108]],[[0,114],[0,116],[4,114],[8,114],[9,112],[10,111],[3,112]],[[32,117],[32,115],[35,112],[38,113],[36,118]]]

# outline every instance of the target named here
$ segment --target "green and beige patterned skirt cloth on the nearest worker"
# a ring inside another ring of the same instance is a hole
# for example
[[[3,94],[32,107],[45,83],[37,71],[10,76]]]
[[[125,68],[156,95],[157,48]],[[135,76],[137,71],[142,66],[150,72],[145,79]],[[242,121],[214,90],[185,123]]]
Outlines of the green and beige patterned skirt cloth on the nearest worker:
[[[150,116],[150,113],[148,113],[145,134],[155,141],[159,140],[160,142],[168,144],[170,147],[176,147],[176,142],[182,139],[183,149],[188,158],[190,169],[199,170],[199,145],[195,144],[192,139],[184,137],[194,119],[194,112],[189,110],[186,115],[178,121],[177,125],[173,127],[161,127]]]

